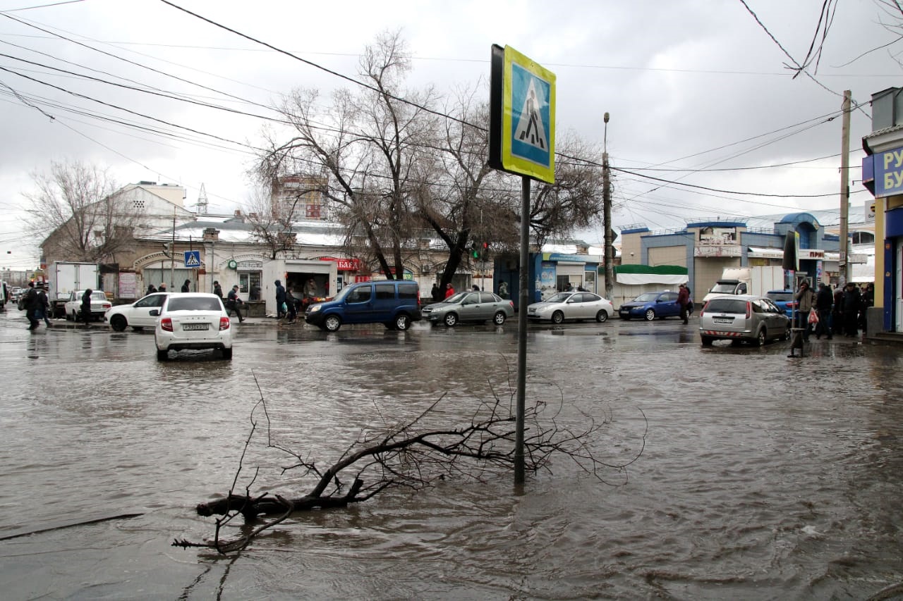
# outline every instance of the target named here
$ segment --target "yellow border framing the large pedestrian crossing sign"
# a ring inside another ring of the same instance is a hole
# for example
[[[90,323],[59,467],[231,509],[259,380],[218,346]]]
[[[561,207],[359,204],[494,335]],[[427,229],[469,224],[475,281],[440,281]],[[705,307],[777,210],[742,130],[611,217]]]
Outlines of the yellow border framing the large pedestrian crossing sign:
[[[511,152],[512,130],[514,129],[514,80],[512,65],[517,64],[538,79],[549,84],[549,162],[540,165],[528,161]],[[501,162],[505,171],[521,173],[523,175],[542,180],[547,183],[555,182],[555,74],[549,69],[531,60],[510,46],[505,46],[505,78],[504,94],[502,100],[502,136],[501,136]]]

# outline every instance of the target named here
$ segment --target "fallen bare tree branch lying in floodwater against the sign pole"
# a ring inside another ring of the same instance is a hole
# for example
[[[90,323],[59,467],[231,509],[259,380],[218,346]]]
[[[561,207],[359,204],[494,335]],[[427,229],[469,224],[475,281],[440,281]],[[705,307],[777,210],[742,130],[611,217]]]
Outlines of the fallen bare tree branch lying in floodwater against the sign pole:
[[[611,422],[577,411],[576,418],[562,416],[563,392],[555,402],[536,401],[526,408],[526,436],[524,455],[530,473],[551,473],[554,458],[573,461],[585,474],[606,484],[627,482],[627,467],[643,452],[646,431],[638,434],[638,447],[630,456],[617,463],[607,463],[597,457],[594,449]],[[502,398],[493,393],[489,402],[480,402],[466,421],[447,425],[439,405],[444,395],[411,421],[395,427],[365,431],[351,442],[340,458],[329,467],[321,467],[311,458],[310,451],[295,451],[273,439],[270,416],[261,398],[251,411],[251,430],[245,441],[237,473],[228,494],[217,501],[197,506],[201,516],[222,515],[216,520],[212,541],[192,542],[175,540],[174,546],[205,547],[228,553],[247,547],[254,537],[276,523],[283,522],[293,512],[312,509],[344,507],[367,501],[392,488],[421,490],[446,478],[480,480],[483,477],[513,473],[515,456],[514,393]],[[260,467],[248,468],[248,449],[257,435],[258,427],[265,435],[265,448],[273,448],[292,458],[292,465],[282,468],[282,474],[292,473],[293,482],[310,482],[310,491],[303,496],[286,498],[264,492],[251,494]],[[243,476],[247,471],[248,476]],[[296,473],[300,471],[300,474]],[[609,474],[617,477],[610,480]],[[249,478],[245,494],[237,494],[241,477]],[[222,527],[241,515],[253,521],[258,515],[276,515],[275,521],[265,522],[235,541],[223,541]]]

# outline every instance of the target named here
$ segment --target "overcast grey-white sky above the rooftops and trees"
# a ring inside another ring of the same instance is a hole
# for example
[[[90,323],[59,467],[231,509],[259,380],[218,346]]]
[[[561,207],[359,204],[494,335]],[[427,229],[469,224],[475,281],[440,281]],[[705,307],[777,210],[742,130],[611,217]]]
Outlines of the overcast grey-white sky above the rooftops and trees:
[[[903,42],[880,23],[897,22],[876,0],[832,0],[817,69],[796,79],[785,65],[805,59],[822,0],[172,4],[348,76],[377,34],[400,29],[414,55],[407,86],[440,92],[487,79],[491,44],[514,47],[556,74],[559,133],[601,146],[610,113],[610,164],[636,173],[615,171],[616,229],[838,207],[844,89],[862,105],[850,161],[851,204],[861,207],[870,200],[859,181],[868,101],[903,84]],[[247,201],[247,146],[260,143],[263,119],[84,76],[264,116],[273,113],[248,103],[352,85],[162,0],[0,0],[0,17],[0,267],[37,264],[18,208],[31,174],[51,161],[95,162],[120,184],[181,184],[186,205],[203,184],[210,212]],[[813,195],[824,196],[803,198]]]

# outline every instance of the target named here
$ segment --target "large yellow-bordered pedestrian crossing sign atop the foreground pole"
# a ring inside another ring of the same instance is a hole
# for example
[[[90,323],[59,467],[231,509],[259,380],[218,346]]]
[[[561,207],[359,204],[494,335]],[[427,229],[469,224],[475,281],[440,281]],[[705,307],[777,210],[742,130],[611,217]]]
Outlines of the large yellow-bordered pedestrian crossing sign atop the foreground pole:
[[[489,165],[554,183],[554,73],[493,45],[490,84]]]

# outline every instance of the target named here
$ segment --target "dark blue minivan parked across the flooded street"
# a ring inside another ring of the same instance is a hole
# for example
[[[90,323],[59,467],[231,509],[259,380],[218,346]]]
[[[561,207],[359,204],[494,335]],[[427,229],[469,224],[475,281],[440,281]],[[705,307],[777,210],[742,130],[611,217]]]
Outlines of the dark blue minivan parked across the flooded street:
[[[304,312],[304,321],[330,332],[343,323],[381,323],[405,330],[418,319],[420,287],[404,280],[351,284],[331,301],[318,302]]]

